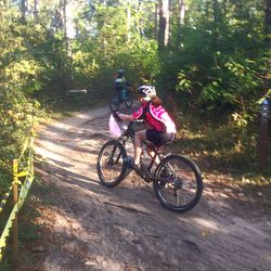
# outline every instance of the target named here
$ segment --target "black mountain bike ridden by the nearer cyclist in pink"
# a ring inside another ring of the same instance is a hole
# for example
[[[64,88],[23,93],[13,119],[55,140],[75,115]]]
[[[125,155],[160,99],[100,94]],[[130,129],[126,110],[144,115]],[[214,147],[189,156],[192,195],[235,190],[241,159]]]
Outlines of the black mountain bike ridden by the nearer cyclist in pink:
[[[129,122],[121,137],[107,141],[99,152],[98,176],[106,188],[116,186],[126,177],[129,168],[126,143],[128,140],[133,141],[134,122]],[[147,145],[147,147],[154,155],[141,156],[141,177],[146,182],[153,182],[155,195],[162,206],[177,212],[194,208],[203,192],[203,179],[197,165],[186,156],[163,155],[163,146]],[[158,165],[155,163],[156,157],[159,158]]]

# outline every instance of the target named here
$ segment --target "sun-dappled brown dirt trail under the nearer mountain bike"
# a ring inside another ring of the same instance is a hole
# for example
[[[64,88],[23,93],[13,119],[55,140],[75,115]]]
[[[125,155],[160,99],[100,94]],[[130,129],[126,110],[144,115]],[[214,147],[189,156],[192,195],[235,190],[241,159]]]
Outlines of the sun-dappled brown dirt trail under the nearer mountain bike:
[[[40,128],[36,152],[48,163],[39,170],[54,191],[40,208],[47,243],[38,269],[271,270],[271,212],[242,193],[234,199],[225,177],[206,175],[199,204],[184,215],[164,209],[134,173],[102,186],[95,163],[108,116],[99,108]]]

